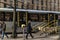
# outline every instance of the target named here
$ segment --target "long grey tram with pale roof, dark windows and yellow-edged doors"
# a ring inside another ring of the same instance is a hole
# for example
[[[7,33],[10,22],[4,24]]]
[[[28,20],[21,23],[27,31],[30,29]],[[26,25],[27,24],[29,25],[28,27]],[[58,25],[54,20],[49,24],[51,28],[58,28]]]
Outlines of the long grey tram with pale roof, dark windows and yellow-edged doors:
[[[7,32],[11,32],[13,26],[13,12],[12,8],[0,8],[0,21],[5,21],[7,26]],[[18,29],[21,24],[27,24],[28,20],[31,20],[32,26],[42,25],[45,22],[49,26],[59,25],[60,12],[57,11],[42,11],[42,10],[29,10],[29,9],[16,9],[15,21],[17,22]],[[44,24],[46,26],[46,23]],[[20,31],[19,29],[18,31]]]

